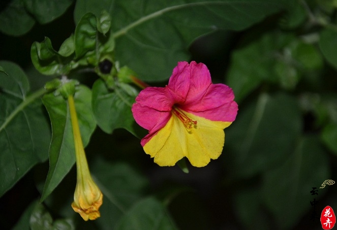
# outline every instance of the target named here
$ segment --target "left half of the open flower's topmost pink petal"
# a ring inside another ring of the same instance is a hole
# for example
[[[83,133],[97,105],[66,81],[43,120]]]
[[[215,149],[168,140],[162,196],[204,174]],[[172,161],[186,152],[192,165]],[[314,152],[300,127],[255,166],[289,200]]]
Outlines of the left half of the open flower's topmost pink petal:
[[[182,103],[185,101],[190,88],[190,74],[190,64],[187,61],[178,62],[178,65],[173,69],[173,73],[166,88],[174,97],[175,103]]]

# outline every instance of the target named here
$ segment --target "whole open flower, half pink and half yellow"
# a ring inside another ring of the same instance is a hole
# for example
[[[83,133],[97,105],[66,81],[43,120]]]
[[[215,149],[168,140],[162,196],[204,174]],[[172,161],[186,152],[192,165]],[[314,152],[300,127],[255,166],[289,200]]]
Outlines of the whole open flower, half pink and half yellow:
[[[234,93],[212,84],[205,64],[178,62],[166,87],[147,87],[132,106],[136,122],[149,130],[144,151],[159,166],[187,157],[195,167],[217,159],[225,143],[224,128],[237,114]]]

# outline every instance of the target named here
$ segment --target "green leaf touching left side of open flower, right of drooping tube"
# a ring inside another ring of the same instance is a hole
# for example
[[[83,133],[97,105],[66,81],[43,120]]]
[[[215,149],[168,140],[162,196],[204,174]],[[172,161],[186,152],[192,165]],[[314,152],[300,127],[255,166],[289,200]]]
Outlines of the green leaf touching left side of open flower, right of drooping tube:
[[[125,128],[136,137],[143,137],[145,131],[136,124],[131,112],[138,92],[125,83],[119,86],[109,90],[101,79],[94,83],[92,107],[96,122],[108,134],[116,128]]]

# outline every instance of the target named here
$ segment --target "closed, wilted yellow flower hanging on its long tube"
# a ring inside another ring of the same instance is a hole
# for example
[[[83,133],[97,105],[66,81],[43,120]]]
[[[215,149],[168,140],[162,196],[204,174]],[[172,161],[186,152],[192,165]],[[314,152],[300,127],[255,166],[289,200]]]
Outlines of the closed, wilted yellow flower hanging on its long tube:
[[[73,127],[77,169],[77,183],[71,207],[84,220],[95,220],[101,216],[99,208],[103,203],[103,194],[89,172],[72,95],[68,96],[68,105]]]

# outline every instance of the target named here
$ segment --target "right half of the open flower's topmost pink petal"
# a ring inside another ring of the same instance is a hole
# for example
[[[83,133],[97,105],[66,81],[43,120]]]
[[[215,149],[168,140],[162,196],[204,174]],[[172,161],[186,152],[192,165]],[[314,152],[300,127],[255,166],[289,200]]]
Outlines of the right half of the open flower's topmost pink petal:
[[[192,61],[190,64],[190,89],[183,104],[199,101],[206,93],[207,88],[212,84],[210,73],[203,63]]]

